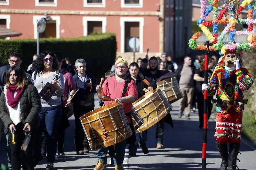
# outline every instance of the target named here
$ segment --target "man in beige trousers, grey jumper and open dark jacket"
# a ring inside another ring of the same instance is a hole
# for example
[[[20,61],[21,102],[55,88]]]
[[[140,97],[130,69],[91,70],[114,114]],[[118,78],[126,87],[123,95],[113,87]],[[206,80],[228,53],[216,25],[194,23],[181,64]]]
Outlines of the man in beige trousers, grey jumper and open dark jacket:
[[[184,58],[184,64],[178,67],[175,71],[175,77],[179,82],[180,90],[183,93],[184,97],[180,99],[180,112],[179,117],[181,118],[183,111],[186,119],[189,119],[189,113],[192,103],[192,97],[194,88],[196,86],[196,81],[193,77],[196,72],[196,67],[194,67],[192,60],[189,56]],[[187,103],[185,103],[187,101]]]

